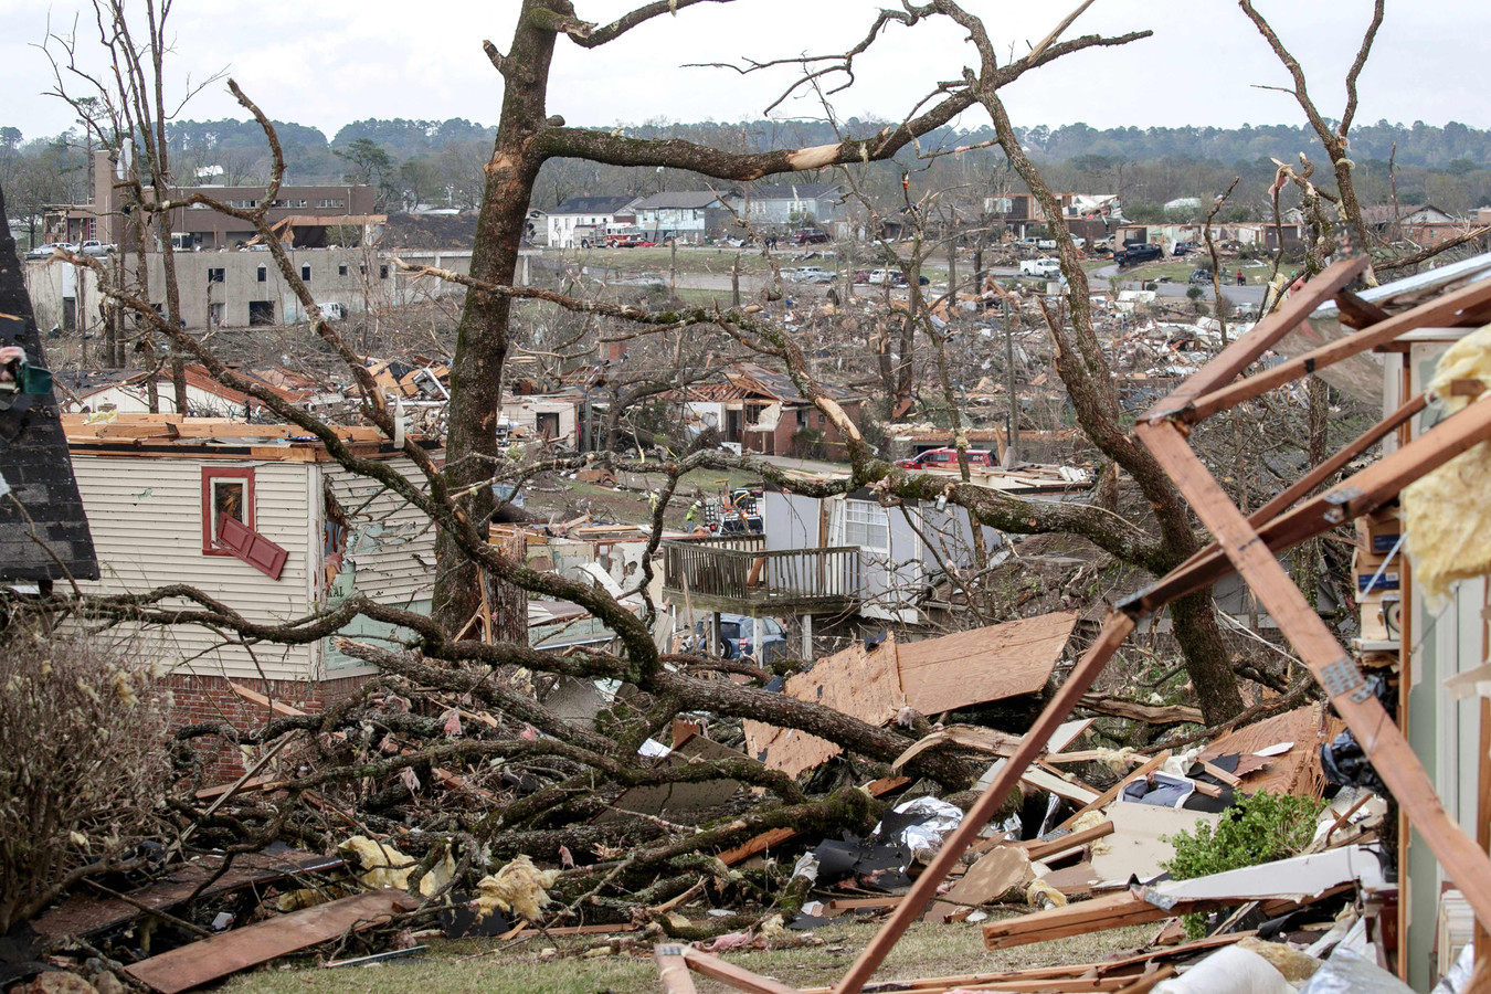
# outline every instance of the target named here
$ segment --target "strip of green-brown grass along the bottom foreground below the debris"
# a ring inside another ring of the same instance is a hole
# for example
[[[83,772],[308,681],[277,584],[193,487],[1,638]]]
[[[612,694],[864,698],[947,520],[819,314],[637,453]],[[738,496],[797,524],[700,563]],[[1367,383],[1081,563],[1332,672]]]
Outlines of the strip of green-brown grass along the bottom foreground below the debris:
[[[820,946],[738,952],[723,958],[790,987],[828,985],[844,976],[877,930],[878,922],[835,922],[819,930]],[[917,922],[875,979],[1090,963],[1139,946],[1154,931],[1154,925],[1136,925],[990,952],[984,949],[983,930],[977,924]],[[306,960],[288,969],[274,964],[236,976],[219,990],[225,994],[656,994],[661,990],[649,945],[643,943],[635,954],[583,958],[577,954],[586,945],[580,939],[550,942],[543,937],[501,948],[467,940],[438,942],[419,958],[368,967],[324,970]],[[576,955],[541,957],[544,948]],[[699,975],[695,982],[699,994],[734,990]]]

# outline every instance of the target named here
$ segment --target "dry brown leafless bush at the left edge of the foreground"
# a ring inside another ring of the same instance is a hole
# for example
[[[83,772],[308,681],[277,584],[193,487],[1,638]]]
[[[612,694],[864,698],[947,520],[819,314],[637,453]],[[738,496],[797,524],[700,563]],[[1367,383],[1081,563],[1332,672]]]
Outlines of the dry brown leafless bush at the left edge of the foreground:
[[[119,653],[0,644],[0,934],[85,876],[145,861],[170,782],[164,693]]]

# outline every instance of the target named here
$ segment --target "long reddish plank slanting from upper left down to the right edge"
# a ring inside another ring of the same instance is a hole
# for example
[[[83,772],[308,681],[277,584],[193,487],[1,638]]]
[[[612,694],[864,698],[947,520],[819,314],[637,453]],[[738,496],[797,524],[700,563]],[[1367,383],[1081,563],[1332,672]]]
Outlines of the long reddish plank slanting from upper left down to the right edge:
[[[1491,282],[1476,286],[1491,294]],[[1384,322],[1390,323],[1393,322]],[[1375,334],[1381,326],[1376,325],[1372,331],[1361,331],[1357,335]],[[1466,410],[1481,404],[1484,401]],[[1415,440],[1430,443],[1419,449],[1421,453],[1428,456],[1436,452],[1434,435],[1443,428],[1442,425]],[[1191,452],[1179,428],[1161,422],[1139,425],[1136,431],[1139,440],[1191,502],[1202,523],[1217,536],[1217,542],[1238,572],[1278,621],[1311,674],[1325,688],[1336,712],[1355,733],[1400,809],[1408,814],[1409,821],[1439,858],[1446,876],[1464,893],[1476,912],[1476,919],[1482,925],[1491,925],[1491,860],[1445,811],[1422,763],[1403,738],[1403,732],[1367,688],[1355,662],[1336,642],[1267,545],[1258,541],[1257,532]],[[1410,446],[1399,452],[1408,449]]]

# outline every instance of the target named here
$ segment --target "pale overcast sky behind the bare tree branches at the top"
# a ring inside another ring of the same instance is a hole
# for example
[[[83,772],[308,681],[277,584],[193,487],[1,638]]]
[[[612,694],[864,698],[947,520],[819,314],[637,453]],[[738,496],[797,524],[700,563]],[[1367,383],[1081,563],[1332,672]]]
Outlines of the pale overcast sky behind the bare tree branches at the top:
[[[638,0],[576,0],[581,16],[610,21]],[[139,0],[134,0],[139,4]],[[735,0],[662,16],[601,49],[564,40],[555,58],[550,113],[570,124],[614,125],[650,118],[740,121],[760,116],[793,72],[740,76],[684,63],[766,60],[844,51],[874,19],[868,0]],[[895,4],[892,4],[895,6]],[[1002,45],[1026,51],[1069,3],[969,0]],[[1303,63],[1312,95],[1330,116],[1343,103],[1342,79],[1370,16],[1369,0],[1258,0]],[[33,45],[72,28],[76,0],[0,0],[0,125],[30,139],[69,127],[69,109],[42,92],[51,67]],[[362,118],[467,118],[495,124],[501,77],[482,39],[507,49],[517,0],[176,0],[174,73],[201,79],[219,69],[265,112],[319,127],[327,137]],[[89,7],[91,10],[91,7]],[[97,30],[81,36],[97,39]],[[1118,49],[1081,52],[1005,91],[1015,124],[1118,125],[1302,124],[1293,100],[1254,83],[1287,82],[1264,40],[1229,0],[1099,0],[1068,33],[1154,37]],[[1358,122],[1388,119],[1491,127],[1491,3],[1388,1],[1372,60],[1361,76]],[[95,58],[97,43],[83,45]],[[972,49],[936,19],[889,28],[857,64],[853,89],[838,94],[839,116],[899,119],[938,80],[956,79]],[[819,116],[816,101],[778,107],[778,116]],[[242,118],[222,83],[200,94],[186,118]],[[981,110],[960,122],[978,127]]]

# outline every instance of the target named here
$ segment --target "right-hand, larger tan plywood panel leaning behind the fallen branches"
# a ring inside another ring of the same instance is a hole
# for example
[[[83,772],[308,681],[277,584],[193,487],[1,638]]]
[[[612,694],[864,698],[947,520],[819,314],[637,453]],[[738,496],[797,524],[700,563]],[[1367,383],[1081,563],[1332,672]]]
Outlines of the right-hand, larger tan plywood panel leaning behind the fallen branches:
[[[907,705],[932,715],[1039,691],[1077,617],[1057,611],[898,645]]]

